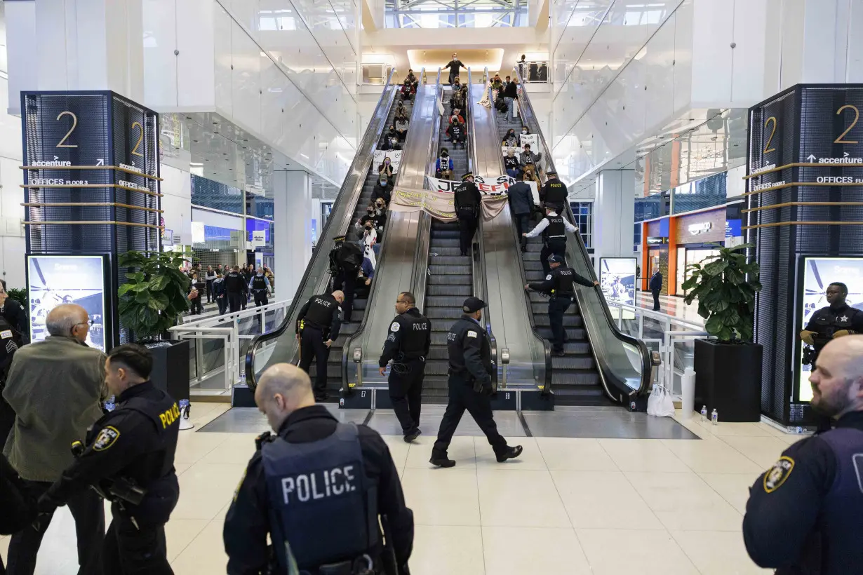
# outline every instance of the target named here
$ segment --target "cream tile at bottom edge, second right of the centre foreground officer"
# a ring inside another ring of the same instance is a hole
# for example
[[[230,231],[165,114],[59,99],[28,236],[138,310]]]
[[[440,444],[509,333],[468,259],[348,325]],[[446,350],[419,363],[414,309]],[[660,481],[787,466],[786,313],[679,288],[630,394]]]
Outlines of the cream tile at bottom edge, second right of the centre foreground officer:
[[[513,545],[516,541],[518,544]],[[571,528],[484,527],[482,551],[489,574],[590,574],[587,558]]]

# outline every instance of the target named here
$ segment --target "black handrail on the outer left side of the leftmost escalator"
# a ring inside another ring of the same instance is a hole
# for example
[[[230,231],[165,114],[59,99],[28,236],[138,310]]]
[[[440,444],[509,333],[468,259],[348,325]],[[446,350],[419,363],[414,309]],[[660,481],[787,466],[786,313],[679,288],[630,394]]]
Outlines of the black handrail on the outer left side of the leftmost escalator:
[[[366,127],[365,134],[362,136],[362,141],[360,141],[359,145],[356,147],[356,155],[354,156],[354,160],[350,164],[350,169],[348,171],[348,176],[344,178],[344,182],[342,184],[341,189],[338,191],[338,195],[333,201],[333,205],[337,205],[339,202],[346,201],[348,197],[356,196],[356,202],[359,201],[360,196],[362,196],[362,186],[365,184],[365,176],[360,176],[356,178],[356,182],[354,186],[350,188],[347,185],[348,181],[350,181],[350,174],[357,172],[362,174],[362,166],[369,164],[374,161],[374,153],[376,144],[372,144],[372,148],[369,151],[369,155],[361,157],[360,150],[369,145],[369,141],[380,141],[381,134],[383,133],[383,129],[387,124],[387,117],[389,116],[389,110],[392,108],[394,99],[395,99],[395,86],[392,85],[393,75],[396,72],[395,67],[393,67],[389,75],[387,76],[387,83],[384,84],[383,91],[381,91],[381,97],[378,99],[378,103],[375,106],[375,116],[372,116],[372,121],[369,122],[369,126]],[[388,99],[388,103],[387,103]],[[382,114],[381,106],[386,103],[386,111]],[[378,125],[374,125],[375,117],[377,117]],[[354,203],[354,207],[356,209],[356,202]],[[315,249],[315,252],[312,254],[312,259],[309,260],[309,263],[306,265],[306,270],[303,272],[303,277],[299,280],[299,285],[297,286],[296,295],[301,294],[305,288],[306,284],[309,281],[309,277],[311,275],[312,269],[314,269],[318,258],[329,258],[330,253],[329,250],[324,253],[324,250],[321,249],[321,244],[329,241],[331,237],[331,230],[334,226],[338,225],[339,229],[349,229],[351,221],[354,218],[354,209],[348,209],[345,211],[345,215],[341,222],[336,224],[334,222],[335,218],[328,218],[326,223],[324,223],[324,228],[321,231],[321,234],[318,236],[318,246]],[[287,249],[287,247],[285,247]],[[287,309],[285,316],[282,318],[282,322],[280,325],[275,328],[273,331],[269,331],[263,334],[255,335],[255,338],[249,343],[249,350],[246,352],[246,384],[249,386],[251,390],[255,390],[255,386],[257,384],[255,375],[255,351],[261,347],[263,344],[268,341],[275,340],[279,338],[282,334],[287,331],[291,323],[291,318],[293,317],[294,312],[299,309],[299,306],[303,305],[306,302],[300,302],[299,297],[294,297],[293,302],[290,307]]]

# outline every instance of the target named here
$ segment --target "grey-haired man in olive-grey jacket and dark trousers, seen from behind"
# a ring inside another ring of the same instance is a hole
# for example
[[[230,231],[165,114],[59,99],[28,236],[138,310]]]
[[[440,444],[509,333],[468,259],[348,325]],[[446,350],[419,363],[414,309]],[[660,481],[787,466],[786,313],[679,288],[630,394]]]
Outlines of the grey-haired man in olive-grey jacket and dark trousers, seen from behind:
[[[90,317],[75,304],[48,312],[48,337],[19,349],[3,390],[15,410],[15,425],[3,455],[23,479],[28,497],[38,499],[72,465],[72,441],[83,441],[87,428],[102,416],[105,355],[85,344]],[[98,572],[104,540],[104,506],[95,491],[69,500],[78,535],[79,575]],[[9,541],[9,575],[33,575],[42,536],[51,515]]]

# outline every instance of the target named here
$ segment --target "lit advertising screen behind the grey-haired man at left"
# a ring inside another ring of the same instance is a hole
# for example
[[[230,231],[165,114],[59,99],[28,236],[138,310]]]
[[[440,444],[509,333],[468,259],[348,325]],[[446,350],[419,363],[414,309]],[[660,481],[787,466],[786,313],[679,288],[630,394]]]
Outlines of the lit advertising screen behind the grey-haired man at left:
[[[87,345],[105,351],[102,256],[30,255],[27,258],[30,341],[44,340],[45,318],[62,303],[77,303],[90,316]]]

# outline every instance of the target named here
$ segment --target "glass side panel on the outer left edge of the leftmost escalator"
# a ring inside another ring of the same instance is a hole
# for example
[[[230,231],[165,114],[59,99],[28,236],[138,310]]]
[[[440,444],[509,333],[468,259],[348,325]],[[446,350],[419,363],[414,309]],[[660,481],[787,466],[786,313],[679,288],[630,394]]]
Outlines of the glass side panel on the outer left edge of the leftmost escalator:
[[[306,266],[306,272],[300,281],[299,288],[293,296],[293,303],[288,309],[286,319],[278,328],[267,334],[261,334],[252,341],[249,352],[246,353],[246,384],[255,389],[258,376],[276,363],[293,362],[299,351],[299,342],[296,341],[293,325],[296,322],[299,308],[315,294],[322,293],[330,279],[330,251],[333,248],[333,236],[343,234],[350,228],[351,218],[356,209],[356,203],[362,195],[362,186],[365,184],[369,172],[372,154],[381,138],[381,133],[386,126],[389,109],[393,105],[398,86],[392,84],[392,69],[387,77],[381,98],[375,108],[375,115],[369,121],[369,127],[362,137],[360,146],[357,147],[356,155],[350,165],[348,176],[344,178],[342,188],[338,192],[336,201],[330,217],[324,224],[324,229],[319,235],[318,244],[312,254],[312,260]],[[287,247],[285,247],[287,249]]]

